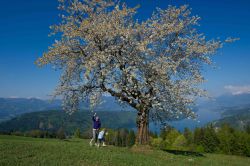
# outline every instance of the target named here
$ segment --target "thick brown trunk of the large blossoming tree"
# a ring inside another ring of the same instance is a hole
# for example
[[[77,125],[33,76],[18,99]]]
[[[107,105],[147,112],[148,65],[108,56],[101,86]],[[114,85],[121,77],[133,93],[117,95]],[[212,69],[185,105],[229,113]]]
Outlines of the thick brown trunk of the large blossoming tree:
[[[139,111],[137,115],[137,144],[145,145],[149,141],[149,116],[148,111]]]

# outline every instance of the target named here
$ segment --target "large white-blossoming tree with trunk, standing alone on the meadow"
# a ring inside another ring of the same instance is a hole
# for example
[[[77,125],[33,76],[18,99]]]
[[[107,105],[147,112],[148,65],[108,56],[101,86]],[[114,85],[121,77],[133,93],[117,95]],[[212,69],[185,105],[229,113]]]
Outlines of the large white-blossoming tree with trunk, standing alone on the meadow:
[[[60,0],[58,33],[39,66],[61,69],[55,95],[64,109],[78,110],[82,100],[99,103],[109,94],[137,110],[137,143],[148,143],[149,119],[193,118],[195,99],[204,96],[203,66],[222,47],[198,33],[198,16],[187,6],[157,9],[139,22],[125,3],[110,0]]]

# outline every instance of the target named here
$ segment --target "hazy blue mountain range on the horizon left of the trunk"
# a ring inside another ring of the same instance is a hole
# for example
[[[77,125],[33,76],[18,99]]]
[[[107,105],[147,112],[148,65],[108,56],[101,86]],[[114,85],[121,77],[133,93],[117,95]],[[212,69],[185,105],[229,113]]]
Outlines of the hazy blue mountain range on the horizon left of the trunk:
[[[61,100],[41,100],[36,98],[0,98],[0,122],[9,120],[18,115],[47,110],[62,110]],[[89,109],[88,102],[81,104],[81,109]],[[95,111],[121,111],[133,110],[120,106],[112,97],[103,97],[103,103],[95,108]]]

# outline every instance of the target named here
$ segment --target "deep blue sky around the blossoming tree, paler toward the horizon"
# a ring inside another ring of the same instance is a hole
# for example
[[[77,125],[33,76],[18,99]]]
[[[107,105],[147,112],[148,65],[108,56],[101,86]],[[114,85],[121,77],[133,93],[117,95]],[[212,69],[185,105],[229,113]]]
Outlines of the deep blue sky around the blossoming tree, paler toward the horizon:
[[[149,17],[156,7],[189,4],[201,17],[199,31],[208,38],[240,40],[219,50],[217,69],[204,71],[204,88],[211,95],[250,92],[250,1],[248,0],[127,0],[140,4],[138,19]],[[12,0],[0,5],[0,97],[48,98],[56,87],[60,71],[38,68],[34,61],[54,38],[49,26],[59,21],[56,0]]]

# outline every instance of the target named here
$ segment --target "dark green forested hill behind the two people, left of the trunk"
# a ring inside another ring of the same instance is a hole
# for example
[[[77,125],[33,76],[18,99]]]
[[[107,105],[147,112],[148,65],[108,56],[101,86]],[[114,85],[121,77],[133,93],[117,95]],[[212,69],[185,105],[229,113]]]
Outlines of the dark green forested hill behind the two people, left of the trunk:
[[[136,113],[131,111],[101,111],[102,127],[135,128]],[[0,132],[26,132],[31,130],[57,131],[63,127],[67,134],[72,134],[77,128],[87,131],[92,127],[92,113],[80,111],[69,115],[63,111],[42,111],[26,113],[11,120],[0,123]]]

